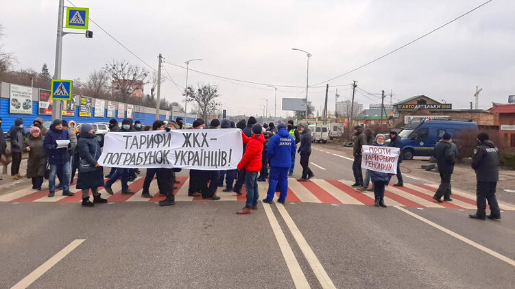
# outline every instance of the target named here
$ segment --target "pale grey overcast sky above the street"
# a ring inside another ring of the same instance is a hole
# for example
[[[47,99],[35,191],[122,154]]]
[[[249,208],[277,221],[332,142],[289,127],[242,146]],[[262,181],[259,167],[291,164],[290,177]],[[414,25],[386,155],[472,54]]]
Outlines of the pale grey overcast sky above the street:
[[[202,58],[191,62],[190,68],[289,86],[306,84],[307,57],[292,47],[313,55],[309,62],[313,85],[392,51],[485,1],[72,0],[78,7],[90,8],[93,21],[154,68],[158,53],[181,65]],[[71,4],[65,1],[65,5]],[[16,68],[39,71],[46,62],[53,73],[57,11],[58,0],[2,0],[5,49],[14,52]],[[353,79],[371,93],[392,90],[394,101],[427,95],[445,99],[453,108],[468,108],[477,85],[483,88],[480,108],[488,108],[492,101],[507,102],[508,95],[515,95],[514,15],[514,0],[494,0],[383,60],[330,81],[328,110],[335,109],[336,88],[342,99],[350,99],[348,84]],[[86,80],[110,60],[145,66],[93,23],[90,29],[93,39],[64,37],[62,78]],[[170,64],[165,67],[184,86],[186,71]],[[231,114],[261,115],[260,105],[265,104],[261,98],[266,98],[269,114],[274,115],[273,88],[237,85],[190,71],[189,84],[197,83],[218,84],[220,101]],[[279,88],[277,114],[288,113],[280,110],[282,97],[305,97],[302,90]],[[163,84],[162,91],[167,100],[184,104],[171,81]],[[324,91],[309,89],[317,109],[324,104]],[[365,107],[381,102],[361,92],[356,99]],[[390,97],[385,103],[390,103]]]

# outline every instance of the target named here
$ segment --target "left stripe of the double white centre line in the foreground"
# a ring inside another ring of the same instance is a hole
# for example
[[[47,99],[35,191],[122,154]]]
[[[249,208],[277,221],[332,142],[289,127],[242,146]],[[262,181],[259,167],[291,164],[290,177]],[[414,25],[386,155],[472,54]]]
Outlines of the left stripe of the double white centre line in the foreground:
[[[294,251],[291,251],[291,247],[288,244],[288,240],[282,229],[280,229],[280,225],[272,212],[272,208],[270,208],[270,204],[263,203],[263,209],[265,210],[265,214],[267,215],[268,221],[270,222],[270,227],[272,227],[272,231],[274,231],[274,235],[276,236],[277,243],[279,244],[280,252],[283,253],[283,257],[285,258],[286,266],[288,267],[289,274],[291,275],[291,279],[294,280],[294,284],[296,288],[311,288],[306,279],[306,275],[302,272],[302,268],[298,264],[297,258],[294,255]]]

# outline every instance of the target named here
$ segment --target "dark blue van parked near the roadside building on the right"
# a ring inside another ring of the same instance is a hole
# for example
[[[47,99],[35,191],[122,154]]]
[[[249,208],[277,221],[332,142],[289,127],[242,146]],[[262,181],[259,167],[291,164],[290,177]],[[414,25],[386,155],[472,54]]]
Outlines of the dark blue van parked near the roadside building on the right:
[[[470,121],[429,121],[425,119],[414,119],[399,132],[403,142],[403,159],[411,160],[413,157],[429,157],[433,155],[436,142],[448,132],[453,138],[462,131],[477,131],[477,124]]]

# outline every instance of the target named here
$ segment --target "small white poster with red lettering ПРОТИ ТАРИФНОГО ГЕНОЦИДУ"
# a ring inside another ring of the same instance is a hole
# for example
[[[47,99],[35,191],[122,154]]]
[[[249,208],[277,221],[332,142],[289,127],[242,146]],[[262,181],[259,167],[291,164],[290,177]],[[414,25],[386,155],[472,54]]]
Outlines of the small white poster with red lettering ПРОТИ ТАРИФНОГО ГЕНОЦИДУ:
[[[364,145],[361,168],[381,173],[397,173],[398,147],[376,147]]]

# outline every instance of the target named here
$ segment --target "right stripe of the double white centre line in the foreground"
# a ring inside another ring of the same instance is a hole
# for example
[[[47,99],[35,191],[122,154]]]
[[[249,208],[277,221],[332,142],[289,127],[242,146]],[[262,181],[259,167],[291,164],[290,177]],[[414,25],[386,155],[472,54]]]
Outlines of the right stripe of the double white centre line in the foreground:
[[[315,273],[322,288],[336,288],[335,284],[333,284],[333,281],[331,281],[331,278],[329,275],[327,275],[324,267],[322,264],[320,264],[317,256],[315,253],[313,253],[311,247],[309,247],[306,239],[304,239],[304,236],[302,236],[302,233],[300,233],[300,230],[298,229],[297,225],[295,225],[294,220],[291,219],[291,216],[288,214],[283,204],[278,203],[277,210],[279,211],[280,215],[283,216],[286,225],[291,231],[291,234],[294,236],[298,246],[300,247],[300,250],[302,251],[302,254],[304,254],[304,257],[306,257],[309,266],[311,266],[311,269],[313,270],[313,273]]]

